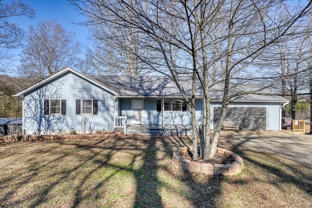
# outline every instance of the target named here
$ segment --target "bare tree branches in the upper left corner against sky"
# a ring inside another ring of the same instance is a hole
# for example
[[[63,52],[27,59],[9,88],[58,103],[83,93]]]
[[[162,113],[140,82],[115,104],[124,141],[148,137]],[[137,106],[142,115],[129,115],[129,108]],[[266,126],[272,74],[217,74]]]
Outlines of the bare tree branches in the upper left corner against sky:
[[[19,48],[24,38],[24,31],[19,25],[10,22],[10,18],[20,16],[33,19],[35,10],[20,0],[8,3],[0,0],[0,72],[12,64],[13,55],[9,49]]]

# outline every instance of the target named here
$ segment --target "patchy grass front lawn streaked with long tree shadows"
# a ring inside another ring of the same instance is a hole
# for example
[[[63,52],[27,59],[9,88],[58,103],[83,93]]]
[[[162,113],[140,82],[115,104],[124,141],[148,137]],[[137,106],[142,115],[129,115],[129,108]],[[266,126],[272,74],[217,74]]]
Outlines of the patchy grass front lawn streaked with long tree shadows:
[[[220,146],[231,150],[229,139]],[[240,148],[236,176],[176,170],[172,151],[190,143],[106,135],[0,144],[0,207],[312,207],[311,169]]]

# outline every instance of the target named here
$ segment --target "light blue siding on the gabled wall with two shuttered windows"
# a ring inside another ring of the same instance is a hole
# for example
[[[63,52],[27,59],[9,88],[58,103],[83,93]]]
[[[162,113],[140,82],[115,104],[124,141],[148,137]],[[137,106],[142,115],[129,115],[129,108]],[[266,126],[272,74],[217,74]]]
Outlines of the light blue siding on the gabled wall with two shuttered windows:
[[[44,115],[45,99],[66,99],[66,115]],[[76,115],[76,99],[98,100],[98,115]],[[68,72],[24,97],[24,133],[48,134],[81,131],[81,120],[88,117],[86,129],[114,128],[114,95]]]

